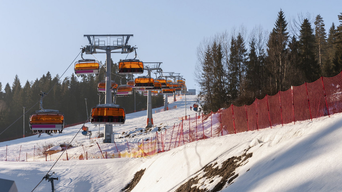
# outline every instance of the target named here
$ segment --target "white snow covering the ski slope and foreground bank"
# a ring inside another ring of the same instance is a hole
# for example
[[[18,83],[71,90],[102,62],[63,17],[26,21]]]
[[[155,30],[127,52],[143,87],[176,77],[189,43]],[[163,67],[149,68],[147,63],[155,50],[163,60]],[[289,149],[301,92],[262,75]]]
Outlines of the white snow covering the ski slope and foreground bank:
[[[180,122],[178,117],[185,116],[185,111],[187,115],[195,114],[189,107],[196,100],[195,95],[187,95],[186,108],[183,96],[176,102],[170,102],[169,107],[177,105],[176,109],[160,113],[155,113],[155,110],[163,107],[153,109],[154,125],[162,125],[162,132],[165,129],[168,131],[174,123]],[[131,147],[136,147],[143,139],[145,141],[155,136],[157,127],[148,133],[137,134],[145,128],[146,114],[146,111],[127,114],[124,125],[113,127],[118,150],[127,148],[127,142]],[[90,123],[85,125],[94,137],[98,127]],[[224,162],[229,158],[252,153],[251,157],[235,161],[239,165],[233,173],[236,178],[226,183],[221,191],[342,191],[342,114],[278,125],[272,129],[211,137],[150,158],[56,162],[49,161],[48,156],[48,161],[26,162],[21,154],[19,161],[14,161],[18,160],[19,152],[33,153],[37,147],[47,144],[68,144],[81,127],[82,124],[69,127],[62,134],[53,136],[42,134],[39,138],[34,135],[1,142],[0,178],[14,180],[20,192],[32,191],[54,165],[49,174],[55,172],[51,177],[58,177],[54,180],[56,191],[121,191],[136,172],[145,169],[132,191],[176,191],[191,178],[198,178],[193,188],[209,191],[222,177],[214,174],[207,178],[203,171],[206,166],[223,169]],[[103,132],[103,126],[100,131]],[[136,136],[119,138],[122,132]],[[67,152],[83,153],[85,150],[98,153],[96,142],[102,151],[117,152],[114,144],[102,143],[102,138],[88,139],[81,132],[71,142],[74,147]],[[7,159],[11,161],[5,161],[6,148]],[[50,190],[51,183],[44,179],[34,191]]]

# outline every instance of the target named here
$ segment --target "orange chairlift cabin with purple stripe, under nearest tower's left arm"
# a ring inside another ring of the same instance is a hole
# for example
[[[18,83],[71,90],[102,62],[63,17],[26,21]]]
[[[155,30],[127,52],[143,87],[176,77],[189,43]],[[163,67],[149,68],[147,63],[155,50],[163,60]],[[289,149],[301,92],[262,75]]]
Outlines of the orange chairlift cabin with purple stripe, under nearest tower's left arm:
[[[94,59],[82,59],[75,62],[75,74],[83,76],[84,74],[95,74],[98,75],[100,64]]]

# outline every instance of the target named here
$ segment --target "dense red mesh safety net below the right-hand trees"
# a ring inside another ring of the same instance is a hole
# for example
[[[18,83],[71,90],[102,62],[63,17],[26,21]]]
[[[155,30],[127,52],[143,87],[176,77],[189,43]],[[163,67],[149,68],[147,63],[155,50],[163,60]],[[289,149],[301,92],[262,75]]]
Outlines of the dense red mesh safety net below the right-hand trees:
[[[323,117],[342,112],[342,73],[291,87],[253,104],[220,109],[221,135]]]

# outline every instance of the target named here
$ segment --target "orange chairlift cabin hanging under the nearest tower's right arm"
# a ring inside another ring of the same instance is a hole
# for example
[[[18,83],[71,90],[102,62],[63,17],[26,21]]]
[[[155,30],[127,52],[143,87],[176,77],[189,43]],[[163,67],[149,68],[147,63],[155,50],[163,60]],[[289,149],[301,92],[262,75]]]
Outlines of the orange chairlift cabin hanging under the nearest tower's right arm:
[[[119,62],[119,74],[142,74],[144,63],[139,59],[125,59]]]

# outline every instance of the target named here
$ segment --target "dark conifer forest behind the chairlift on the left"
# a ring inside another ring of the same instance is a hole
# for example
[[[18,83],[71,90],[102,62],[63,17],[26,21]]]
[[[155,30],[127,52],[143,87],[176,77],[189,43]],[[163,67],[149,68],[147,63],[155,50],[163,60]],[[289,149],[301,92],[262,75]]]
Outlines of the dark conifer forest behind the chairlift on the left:
[[[120,82],[125,85],[133,76],[119,75],[117,73],[117,63],[112,62],[111,80],[118,85]],[[100,62],[100,66],[102,62]],[[29,129],[29,116],[32,112],[39,110],[39,101],[41,91],[48,93],[43,98],[44,109],[59,110],[64,114],[66,124],[77,123],[87,120],[90,115],[91,108],[95,107],[100,100],[101,104],[105,103],[105,94],[98,95],[97,84],[105,79],[105,67],[100,67],[98,76],[84,75],[77,77],[75,74],[60,79],[58,74],[52,77],[50,72],[43,75],[34,82],[28,80],[22,86],[19,77],[16,75],[12,86],[7,83],[4,87],[0,82],[0,133],[9,127],[0,135],[0,139],[13,138],[23,136],[23,117],[25,107],[25,134],[32,131]],[[58,80],[60,79],[60,80]],[[120,80],[121,79],[121,80]],[[85,100],[87,99],[87,100]],[[87,102],[87,105],[86,105]],[[117,97],[116,104],[124,107],[126,113],[134,112],[134,93],[127,97]],[[164,105],[163,95],[152,97],[152,107]],[[142,93],[135,93],[135,109],[136,111],[146,110],[147,97]],[[19,118],[19,119],[18,119]]]

